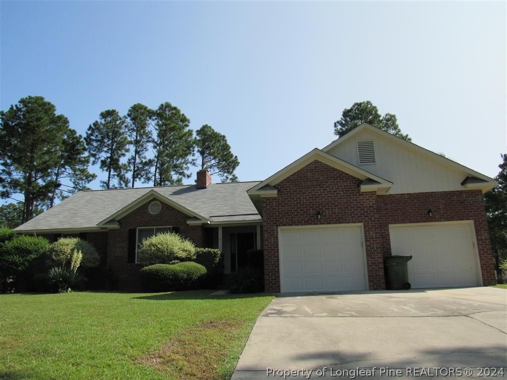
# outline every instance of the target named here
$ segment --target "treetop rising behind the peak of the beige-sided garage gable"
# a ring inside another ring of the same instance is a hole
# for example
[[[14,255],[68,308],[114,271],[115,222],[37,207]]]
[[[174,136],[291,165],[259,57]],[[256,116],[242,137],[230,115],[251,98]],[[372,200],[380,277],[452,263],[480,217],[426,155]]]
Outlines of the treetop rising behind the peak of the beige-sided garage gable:
[[[356,102],[350,108],[343,110],[341,119],[335,122],[335,135],[342,137],[363,123],[368,123],[404,140],[412,141],[408,134],[402,133],[396,115],[393,113],[380,115],[378,108],[369,100]]]

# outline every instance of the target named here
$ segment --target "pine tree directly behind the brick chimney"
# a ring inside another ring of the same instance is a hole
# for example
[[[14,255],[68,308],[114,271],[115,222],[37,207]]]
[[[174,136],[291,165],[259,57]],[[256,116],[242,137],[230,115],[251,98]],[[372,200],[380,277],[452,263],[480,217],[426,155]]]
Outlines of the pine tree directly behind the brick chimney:
[[[239,165],[238,157],[231,152],[227,138],[205,124],[196,131],[197,164],[210,175],[218,174],[222,182],[236,182],[234,171]]]

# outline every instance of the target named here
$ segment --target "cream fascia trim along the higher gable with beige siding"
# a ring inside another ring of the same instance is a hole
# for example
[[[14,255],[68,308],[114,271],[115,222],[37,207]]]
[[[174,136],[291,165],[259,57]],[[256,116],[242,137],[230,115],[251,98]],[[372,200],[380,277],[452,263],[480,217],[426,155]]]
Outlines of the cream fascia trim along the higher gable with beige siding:
[[[426,156],[426,157],[429,157],[430,159],[436,160],[436,161],[442,163],[445,166],[449,166],[451,168],[464,171],[465,173],[470,174],[470,177],[478,177],[478,178],[484,179],[485,181],[488,181],[488,182],[494,181],[493,178],[488,177],[487,175],[479,173],[479,172],[477,172],[477,171],[475,171],[473,169],[470,169],[470,168],[468,168],[468,167],[466,167],[464,165],[458,164],[457,162],[449,160],[448,158],[445,158],[445,157],[439,155],[438,153],[434,153],[434,151],[431,151],[429,149],[423,148],[422,146],[419,146],[419,145],[417,145],[417,144],[415,144],[415,143],[413,143],[411,141],[404,140],[401,137],[394,136],[393,134],[391,134],[389,132],[386,132],[386,131],[384,131],[384,130],[382,130],[380,128],[376,128],[376,127],[374,127],[374,126],[372,126],[370,124],[367,124],[367,123],[361,124],[359,127],[354,128],[352,131],[350,131],[349,133],[347,133],[345,136],[340,137],[339,139],[333,141],[331,144],[323,147],[322,151],[327,152],[328,150],[334,148],[336,145],[339,145],[339,144],[343,143],[344,141],[348,140],[349,138],[351,138],[352,136],[354,136],[355,134],[359,133],[360,131],[362,131],[364,129],[368,129],[370,131],[378,133],[382,137],[385,137],[387,139],[391,139],[394,142],[402,144],[407,149],[413,150],[413,151],[415,151],[415,152],[417,152],[417,153],[419,153],[419,154],[421,154],[423,156]]]

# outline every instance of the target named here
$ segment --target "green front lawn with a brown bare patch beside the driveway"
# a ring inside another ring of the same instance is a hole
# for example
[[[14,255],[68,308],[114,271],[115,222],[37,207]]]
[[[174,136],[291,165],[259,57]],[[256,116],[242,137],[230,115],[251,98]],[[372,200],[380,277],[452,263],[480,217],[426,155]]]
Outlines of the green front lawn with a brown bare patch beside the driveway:
[[[0,378],[228,379],[272,296],[0,295]]]

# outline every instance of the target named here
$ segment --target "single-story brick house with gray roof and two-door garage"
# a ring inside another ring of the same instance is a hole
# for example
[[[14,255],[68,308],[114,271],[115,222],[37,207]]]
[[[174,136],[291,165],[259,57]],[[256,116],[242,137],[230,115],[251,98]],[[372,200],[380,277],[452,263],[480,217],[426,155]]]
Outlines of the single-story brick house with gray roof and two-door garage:
[[[381,290],[383,258],[412,255],[414,288],[496,283],[483,193],[496,181],[363,124],[264,181],[80,192],[17,227],[94,244],[121,289],[136,248],[173,231],[219,248],[225,273],[264,250],[267,292]]]

